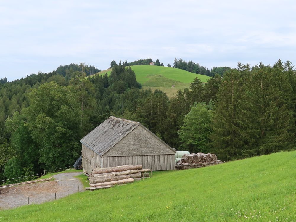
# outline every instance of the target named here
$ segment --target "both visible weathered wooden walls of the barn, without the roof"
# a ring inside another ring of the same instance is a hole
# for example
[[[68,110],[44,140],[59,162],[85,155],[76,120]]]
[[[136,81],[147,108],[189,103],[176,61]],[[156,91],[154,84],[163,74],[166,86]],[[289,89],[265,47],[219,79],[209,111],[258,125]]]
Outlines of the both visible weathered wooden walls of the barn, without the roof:
[[[153,171],[175,169],[175,152],[141,125],[128,133],[102,157],[82,144],[82,167],[85,173],[90,174],[97,167],[140,164],[143,169]]]

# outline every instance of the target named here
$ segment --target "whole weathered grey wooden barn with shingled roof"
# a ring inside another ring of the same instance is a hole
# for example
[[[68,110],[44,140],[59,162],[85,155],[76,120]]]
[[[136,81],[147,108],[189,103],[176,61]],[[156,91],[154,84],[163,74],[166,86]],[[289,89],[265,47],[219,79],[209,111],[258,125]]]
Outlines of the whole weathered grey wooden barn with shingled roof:
[[[139,122],[110,116],[83,137],[85,173],[99,167],[143,165],[143,169],[174,170],[176,150]]]

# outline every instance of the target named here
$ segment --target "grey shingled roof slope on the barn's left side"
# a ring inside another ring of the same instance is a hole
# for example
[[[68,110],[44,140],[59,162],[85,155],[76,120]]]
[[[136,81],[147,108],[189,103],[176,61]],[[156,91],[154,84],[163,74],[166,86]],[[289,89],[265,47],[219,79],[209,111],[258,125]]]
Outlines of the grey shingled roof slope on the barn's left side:
[[[84,136],[80,142],[99,155],[113,147],[126,134],[139,126],[139,122],[110,116],[107,120]]]

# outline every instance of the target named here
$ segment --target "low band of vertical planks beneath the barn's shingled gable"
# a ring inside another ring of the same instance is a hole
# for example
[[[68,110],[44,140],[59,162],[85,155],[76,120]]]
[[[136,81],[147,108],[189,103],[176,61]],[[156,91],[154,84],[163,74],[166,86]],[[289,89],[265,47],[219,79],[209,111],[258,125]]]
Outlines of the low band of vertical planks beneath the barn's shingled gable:
[[[175,154],[102,157],[102,167],[143,165],[143,169],[174,170]]]

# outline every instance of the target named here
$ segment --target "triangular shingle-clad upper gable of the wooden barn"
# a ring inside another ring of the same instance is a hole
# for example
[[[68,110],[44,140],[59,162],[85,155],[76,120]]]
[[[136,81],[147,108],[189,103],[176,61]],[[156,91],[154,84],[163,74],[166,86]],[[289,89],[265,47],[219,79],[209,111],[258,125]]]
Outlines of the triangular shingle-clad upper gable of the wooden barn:
[[[175,154],[175,152],[139,125],[102,156],[158,154]]]

